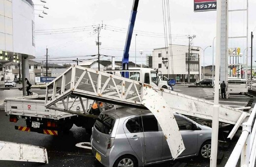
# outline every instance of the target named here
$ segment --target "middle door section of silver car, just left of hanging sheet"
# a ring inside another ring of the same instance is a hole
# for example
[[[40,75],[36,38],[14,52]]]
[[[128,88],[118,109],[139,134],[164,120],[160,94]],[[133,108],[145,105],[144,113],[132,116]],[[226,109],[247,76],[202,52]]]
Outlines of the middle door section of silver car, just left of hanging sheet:
[[[145,144],[145,163],[162,160],[162,132],[159,131],[157,118],[154,115],[142,116]]]

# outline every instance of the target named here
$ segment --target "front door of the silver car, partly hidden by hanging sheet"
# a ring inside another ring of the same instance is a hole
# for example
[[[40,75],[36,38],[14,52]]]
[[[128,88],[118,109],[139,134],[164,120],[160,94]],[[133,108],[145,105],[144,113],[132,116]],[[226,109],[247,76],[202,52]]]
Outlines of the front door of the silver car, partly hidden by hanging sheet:
[[[186,117],[183,117],[182,115],[174,115],[183,142],[184,142],[184,146],[185,146],[185,150],[181,153],[181,155],[179,157],[184,157],[184,156],[190,156],[190,155],[194,155],[196,154],[196,149],[197,149],[197,144],[198,144],[198,130],[192,130],[192,122],[190,120],[188,120]],[[164,160],[167,159],[172,159],[171,156],[171,152],[169,149],[169,146],[167,144],[166,139],[164,138],[164,135],[162,133],[163,136],[163,151],[162,151],[162,157]]]

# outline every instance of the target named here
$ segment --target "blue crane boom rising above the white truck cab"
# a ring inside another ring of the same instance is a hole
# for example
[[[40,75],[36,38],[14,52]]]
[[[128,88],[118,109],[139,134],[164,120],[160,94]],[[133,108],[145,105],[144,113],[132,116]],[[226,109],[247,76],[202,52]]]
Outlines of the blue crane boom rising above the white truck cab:
[[[130,42],[131,42],[132,32],[134,28],[135,19],[136,19],[138,4],[139,4],[139,0],[133,0],[132,10],[130,14],[130,21],[129,21],[128,31],[127,31],[127,37],[126,37],[126,45],[125,45],[125,50],[124,50],[124,55],[122,60],[123,70],[128,70]],[[123,72],[122,76],[128,78],[128,72]]]

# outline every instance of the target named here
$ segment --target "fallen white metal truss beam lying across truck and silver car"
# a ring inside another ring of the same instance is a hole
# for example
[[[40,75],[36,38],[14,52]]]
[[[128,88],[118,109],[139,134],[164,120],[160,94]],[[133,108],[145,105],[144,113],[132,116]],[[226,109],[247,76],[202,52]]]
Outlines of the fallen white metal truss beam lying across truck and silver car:
[[[46,97],[45,106],[58,111],[84,115],[85,111],[89,109],[88,104],[83,104],[84,107],[82,106],[81,109],[85,109],[81,111],[67,110],[68,99],[75,99],[77,96],[85,100],[91,99],[89,105],[93,103],[92,100],[95,100],[115,105],[146,109],[141,104],[142,98],[145,96],[142,93],[144,86],[148,86],[148,84],[73,65],[64,74],[47,85],[46,96],[52,92],[58,92],[58,94],[52,96],[50,100]],[[171,109],[186,115],[212,119],[212,102],[156,86],[151,87],[163,96],[163,99]],[[63,101],[63,105],[56,106],[59,101]],[[221,122],[236,124],[242,113],[244,112],[220,105]]]

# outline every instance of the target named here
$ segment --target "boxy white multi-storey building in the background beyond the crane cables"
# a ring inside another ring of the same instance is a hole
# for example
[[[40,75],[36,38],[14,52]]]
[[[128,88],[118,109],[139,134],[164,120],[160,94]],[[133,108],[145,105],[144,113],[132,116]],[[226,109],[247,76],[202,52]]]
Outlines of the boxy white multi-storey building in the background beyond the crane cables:
[[[172,52],[171,52],[172,50]],[[189,60],[189,46],[185,45],[170,45],[168,48],[154,49],[152,58],[149,58],[151,68],[158,69],[160,74],[167,78],[176,78],[180,82],[188,80],[188,70],[190,65],[191,82],[201,79],[201,58],[202,49],[200,47],[190,47]],[[163,58],[168,56],[167,62]],[[152,61],[152,62],[151,62]],[[152,66],[151,66],[152,64]],[[168,71],[169,70],[169,77]]]

